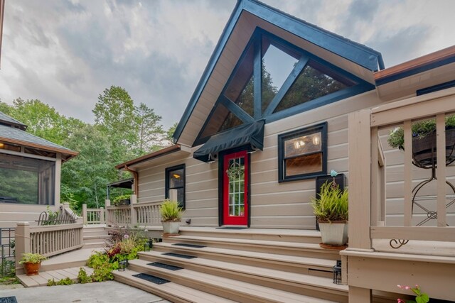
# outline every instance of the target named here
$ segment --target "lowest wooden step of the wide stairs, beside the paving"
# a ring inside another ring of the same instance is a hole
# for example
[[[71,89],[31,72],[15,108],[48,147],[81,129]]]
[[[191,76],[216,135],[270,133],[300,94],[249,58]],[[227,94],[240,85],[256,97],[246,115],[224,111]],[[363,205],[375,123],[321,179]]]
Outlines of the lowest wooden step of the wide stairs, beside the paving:
[[[139,277],[133,277],[139,272],[134,270],[125,270],[124,272],[114,271],[114,280],[122,282],[133,287],[137,287],[146,292],[151,292],[159,297],[168,299],[171,302],[176,303],[232,303],[235,301],[225,299],[222,297],[208,294],[207,292],[201,292],[200,290],[193,290],[190,287],[178,285],[173,282],[169,282],[162,285],[156,285],[152,282],[140,279]]]

